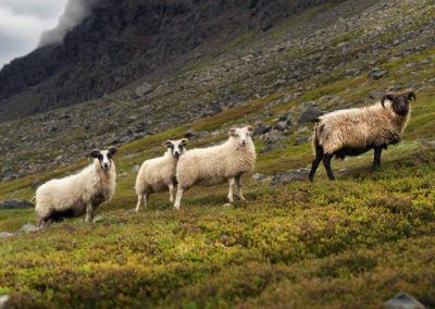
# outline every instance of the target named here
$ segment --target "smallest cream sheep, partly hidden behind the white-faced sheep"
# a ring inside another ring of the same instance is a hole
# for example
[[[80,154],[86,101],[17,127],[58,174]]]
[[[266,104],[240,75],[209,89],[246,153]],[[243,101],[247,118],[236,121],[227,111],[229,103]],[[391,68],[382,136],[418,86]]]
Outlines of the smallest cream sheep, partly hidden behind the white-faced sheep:
[[[170,189],[170,201],[174,202],[175,171],[178,158],[186,152],[187,138],[166,140],[169,149],[163,157],[147,160],[140,166],[136,178],[137,206],[139,211],[144,201],[147,208],[148,197],[152,193]]]

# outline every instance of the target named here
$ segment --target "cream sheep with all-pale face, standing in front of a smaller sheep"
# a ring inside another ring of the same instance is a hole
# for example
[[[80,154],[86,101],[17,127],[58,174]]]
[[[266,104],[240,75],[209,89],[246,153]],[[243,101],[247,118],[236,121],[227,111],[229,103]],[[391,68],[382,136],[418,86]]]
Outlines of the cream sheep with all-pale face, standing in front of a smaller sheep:
[[[228,200],[234,201],[233,189],[237,181],[238,197],[241,193],[241,175],[252,172],[256,163],[256,148],[251,134],[252,126],[232,128],[229,138],[220,146],[189,150],[178,160],[176,180],[178,182],[175,209],[179,209],[183,193],[196,184],[214,185],[229,183]]]

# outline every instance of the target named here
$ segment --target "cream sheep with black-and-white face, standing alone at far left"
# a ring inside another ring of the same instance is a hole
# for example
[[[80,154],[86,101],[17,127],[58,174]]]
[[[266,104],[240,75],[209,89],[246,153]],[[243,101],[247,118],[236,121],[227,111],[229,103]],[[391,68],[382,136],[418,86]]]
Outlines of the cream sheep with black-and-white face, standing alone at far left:
[[[98,206],[110,201],[116,186],[115,164],[112,156],[115,147],[94,149],[89,158],[94,162],[74,175],[51,180],[36,190],[36,215],[38,227],[48,227],[53,221],[75,218],[86,212],[91,222]]]

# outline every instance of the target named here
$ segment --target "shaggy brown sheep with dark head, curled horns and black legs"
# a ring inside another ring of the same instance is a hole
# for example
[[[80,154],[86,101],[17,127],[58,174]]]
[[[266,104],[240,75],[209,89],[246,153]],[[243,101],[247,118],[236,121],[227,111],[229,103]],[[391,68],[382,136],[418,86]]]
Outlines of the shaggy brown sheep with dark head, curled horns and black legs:
[[[372,172],[381,165],[382,149],[400,143],[410,116],[409,101],[417,99],[411,89],[402,92],[388,91],[381,103],[371,107],[331,112],[316,120],[313,134],[315,159],[309,180],[312,182],[320,161],[323,160],[327,176],[335,180],[331,170],[331,159],[335,156],[359,156],[374,149]],[[387,103],[385,103],[387,101]]]

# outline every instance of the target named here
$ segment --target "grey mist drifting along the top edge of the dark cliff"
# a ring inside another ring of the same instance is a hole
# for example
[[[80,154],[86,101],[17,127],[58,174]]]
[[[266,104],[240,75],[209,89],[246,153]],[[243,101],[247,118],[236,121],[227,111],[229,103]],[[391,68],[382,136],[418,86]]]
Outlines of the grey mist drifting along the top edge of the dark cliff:
[[[67,32],[88,17],[98,0],[69,0],[54,29],[41,34],[38,47],[61,44]]]

